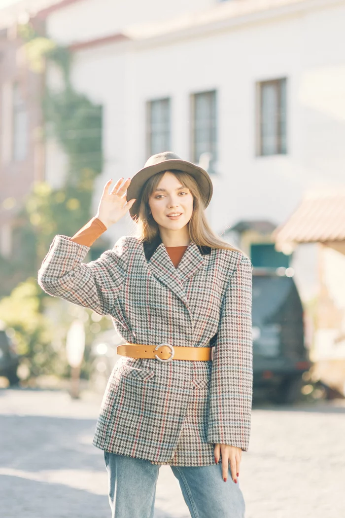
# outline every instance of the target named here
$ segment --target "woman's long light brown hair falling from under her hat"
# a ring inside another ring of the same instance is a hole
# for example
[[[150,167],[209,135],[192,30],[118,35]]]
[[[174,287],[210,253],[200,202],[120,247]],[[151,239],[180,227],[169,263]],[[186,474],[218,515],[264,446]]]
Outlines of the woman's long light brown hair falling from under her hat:
[[[149,212],[148,200],[166,172],[172,172],[182,185],[189,189],[193,196],[193,212],[187,223],[191,241],[200,246],[235,250],[246,255],[242,250],[231,246],[231,244],[221,239],[212,231],[205,217],[204,201],[196,180],[187,172],[177,169],[158,172],[145,182],[140,199],[139,218],[137,220],[138,237],[144,241],[153,241],[159,235],[158,224]]]

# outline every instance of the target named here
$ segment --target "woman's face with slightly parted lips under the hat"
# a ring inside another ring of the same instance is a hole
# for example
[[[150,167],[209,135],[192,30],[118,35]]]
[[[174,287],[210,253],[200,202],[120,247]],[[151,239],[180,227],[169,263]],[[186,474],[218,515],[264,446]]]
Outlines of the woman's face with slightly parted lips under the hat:
[[[193,196],[172,172],[166,171],[148,199],[152,216],[158,225],[179,230],[189,222],[193,212]]]

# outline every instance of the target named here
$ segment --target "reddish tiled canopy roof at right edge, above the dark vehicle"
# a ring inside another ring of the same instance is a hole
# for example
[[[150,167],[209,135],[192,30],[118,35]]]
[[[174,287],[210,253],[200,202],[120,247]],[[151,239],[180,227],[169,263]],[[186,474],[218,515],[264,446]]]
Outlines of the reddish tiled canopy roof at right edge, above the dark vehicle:
[[[306,193],[272,237],[277,248],[289,243],[345,240],[345,186]]]

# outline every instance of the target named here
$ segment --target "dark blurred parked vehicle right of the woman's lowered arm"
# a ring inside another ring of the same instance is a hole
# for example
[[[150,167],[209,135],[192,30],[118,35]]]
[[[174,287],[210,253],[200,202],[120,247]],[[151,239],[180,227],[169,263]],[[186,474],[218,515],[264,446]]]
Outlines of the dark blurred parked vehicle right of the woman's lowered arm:
[[[254,268],[252,273],[253,395],[290,404],[301,396],[303,372],[312,366],[293,270]]]

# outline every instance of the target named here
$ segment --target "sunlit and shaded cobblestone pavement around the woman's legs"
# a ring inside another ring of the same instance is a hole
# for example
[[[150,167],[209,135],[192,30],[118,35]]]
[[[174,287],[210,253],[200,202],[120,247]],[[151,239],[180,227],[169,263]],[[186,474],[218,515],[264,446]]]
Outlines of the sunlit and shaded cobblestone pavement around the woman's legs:
[[[99,404],[88,393],[0,390],[2,518],[109,518],[103,456],[91,444]],[[239,479],[246,518],[343,518],[343,400],[253,407]],[[190,518],[169,466],[155,518]]]

